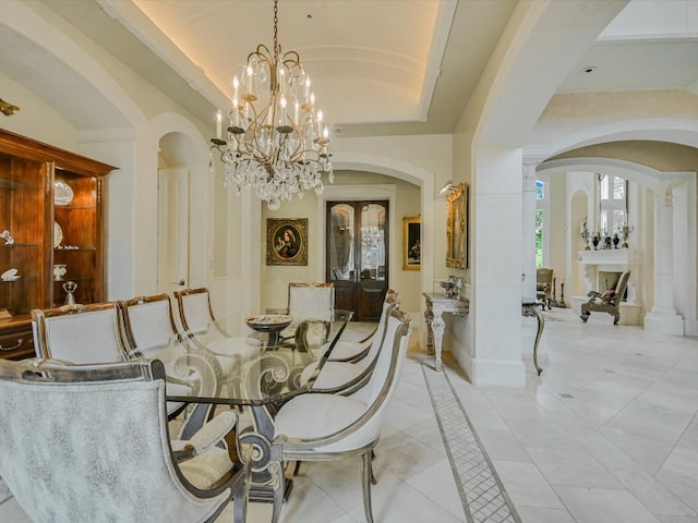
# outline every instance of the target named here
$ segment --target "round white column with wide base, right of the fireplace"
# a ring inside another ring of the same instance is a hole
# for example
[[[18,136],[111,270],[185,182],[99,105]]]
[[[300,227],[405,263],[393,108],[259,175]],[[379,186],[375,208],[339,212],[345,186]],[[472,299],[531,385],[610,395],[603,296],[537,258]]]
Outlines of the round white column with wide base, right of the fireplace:
[[[645,330],[684,335],[684,320],[674,307],[674,208],[673,184],[654,194],[654,306],[645,316]]]

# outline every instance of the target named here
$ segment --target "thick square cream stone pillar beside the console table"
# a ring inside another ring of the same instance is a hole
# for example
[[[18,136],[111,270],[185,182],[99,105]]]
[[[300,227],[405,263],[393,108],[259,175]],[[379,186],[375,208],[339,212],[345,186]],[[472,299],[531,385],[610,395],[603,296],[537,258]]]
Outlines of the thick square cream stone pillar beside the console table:
[[[470,192],[470,327],[476,385],[522,387],[521,149],[479,147]]]

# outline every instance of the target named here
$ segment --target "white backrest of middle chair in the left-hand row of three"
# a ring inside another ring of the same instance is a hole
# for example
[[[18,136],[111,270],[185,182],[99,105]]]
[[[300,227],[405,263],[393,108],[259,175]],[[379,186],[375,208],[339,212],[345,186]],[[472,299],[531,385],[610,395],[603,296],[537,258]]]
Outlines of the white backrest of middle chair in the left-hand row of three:
[[[123,313],[125,332],[132,349],[167,344],[177,335],[172,305],[167,294],[137,296],[119,302]]]

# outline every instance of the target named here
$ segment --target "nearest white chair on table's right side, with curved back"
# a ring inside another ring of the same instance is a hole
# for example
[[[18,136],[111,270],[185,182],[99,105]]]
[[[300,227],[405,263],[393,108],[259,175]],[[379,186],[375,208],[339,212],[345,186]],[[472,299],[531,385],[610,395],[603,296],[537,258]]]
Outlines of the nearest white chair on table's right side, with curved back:
[[[285,403],[274,419],[272,459],[278,463],[273,522],[279,520],[284,496],[284,463],[361,457],[363,504],[373,523],[372,452],[381,435],[387,402],[398,385],[411,330],[409,315],[394,309],[383,348],[365,387],[351,396],[309,392]]]

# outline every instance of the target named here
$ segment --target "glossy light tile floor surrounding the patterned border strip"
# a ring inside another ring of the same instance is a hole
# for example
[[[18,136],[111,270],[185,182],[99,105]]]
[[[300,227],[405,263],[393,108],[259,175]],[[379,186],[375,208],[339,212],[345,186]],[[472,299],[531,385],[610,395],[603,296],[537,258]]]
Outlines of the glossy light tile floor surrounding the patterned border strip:
[[[607,315],[593,314],[586,325],[568,309],[545,316],[540,377],[531,355],[535,321],[522,318],[524,388],[472,386],[445,358],[446,386],[513,501],[514,518],[698,523],[698,340],[614,327]],[[472,521],[424,373],[434,373],[431,360],[412,346],[376,448],[376,523]],[[448,438],[458,442],[459,429]],[[268,504],[251,503],[248,521],[269,515]],[[0,504],[0,521],[26,519],[10,500]],[[232,521],[231,511],[219,521]],[[358,460],[303,464],[284,523],[363,521]]]

